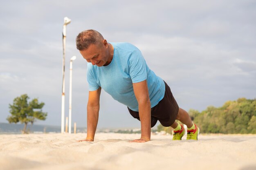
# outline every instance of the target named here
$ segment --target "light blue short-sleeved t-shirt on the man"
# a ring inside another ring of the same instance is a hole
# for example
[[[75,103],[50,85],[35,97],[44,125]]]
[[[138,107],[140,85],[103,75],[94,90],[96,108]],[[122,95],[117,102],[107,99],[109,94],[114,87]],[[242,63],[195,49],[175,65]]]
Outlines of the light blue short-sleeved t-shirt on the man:
[[[132,83],[147,79],[151,108],[153,108],[164,97],[164,81],[148,68],[137,47],[126,42],[110,44],[114,46],[114,55],[108,66],[98,67],[88,62],[89,91],[101,87],[118,102],[133,111],[139,111]]]

